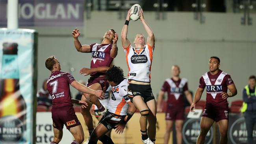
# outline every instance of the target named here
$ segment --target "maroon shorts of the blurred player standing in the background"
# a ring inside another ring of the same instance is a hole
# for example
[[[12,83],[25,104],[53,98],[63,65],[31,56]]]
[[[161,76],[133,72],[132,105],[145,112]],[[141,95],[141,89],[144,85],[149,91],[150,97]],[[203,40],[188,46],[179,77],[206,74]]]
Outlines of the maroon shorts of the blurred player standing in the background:
[[[165,120],[184,120],[184,106],[168,105],[165,111]]]

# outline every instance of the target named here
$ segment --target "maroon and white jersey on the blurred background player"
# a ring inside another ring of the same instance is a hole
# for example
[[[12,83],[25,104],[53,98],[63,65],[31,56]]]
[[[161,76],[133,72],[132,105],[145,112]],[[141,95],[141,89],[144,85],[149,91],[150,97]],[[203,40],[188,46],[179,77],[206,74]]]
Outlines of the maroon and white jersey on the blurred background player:
[[[184,91],[188,90],[187,79],[182,78],[178,81],[174,81],[173,78],[165,79],[161,90],[168,93],[167,103],[183,106],[184,101],[182,96]]]

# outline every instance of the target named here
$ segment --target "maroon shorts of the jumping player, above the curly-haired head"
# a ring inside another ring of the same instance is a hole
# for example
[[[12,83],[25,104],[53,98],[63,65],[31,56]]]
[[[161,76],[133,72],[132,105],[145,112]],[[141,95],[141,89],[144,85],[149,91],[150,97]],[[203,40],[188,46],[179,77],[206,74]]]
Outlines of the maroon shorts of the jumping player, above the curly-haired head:
[[[108,89],[109,83],[105,76],[98,76],[98,77],[90,77],[88,79],[87,87],[90,87],[91,85],[99,83],[101,86],[101,89],[105,92]]]

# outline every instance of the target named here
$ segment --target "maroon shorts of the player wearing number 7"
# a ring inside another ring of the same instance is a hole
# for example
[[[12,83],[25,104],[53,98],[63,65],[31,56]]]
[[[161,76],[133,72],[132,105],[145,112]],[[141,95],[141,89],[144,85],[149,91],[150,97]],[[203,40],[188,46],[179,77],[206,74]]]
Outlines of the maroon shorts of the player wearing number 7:
[[[81,125],[71,106],[52,108],[52,121],[52,126],[59,130],[63,129],[64,124],[67,129]]]

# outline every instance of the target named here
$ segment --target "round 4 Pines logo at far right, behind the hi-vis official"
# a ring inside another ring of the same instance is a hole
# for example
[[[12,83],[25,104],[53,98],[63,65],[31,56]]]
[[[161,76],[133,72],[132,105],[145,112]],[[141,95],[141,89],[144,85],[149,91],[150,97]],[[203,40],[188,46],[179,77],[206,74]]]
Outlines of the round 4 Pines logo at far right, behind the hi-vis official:
[[[252,136],[256,141],[256,129],[254,128]],[[247,128],[245,118],[238,118],[232,123],[229,130],[229,137],[232,144],[247,144]]]

